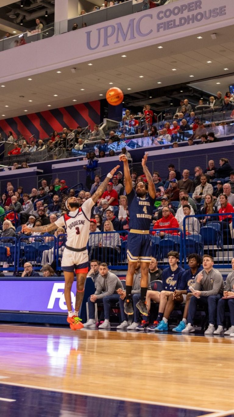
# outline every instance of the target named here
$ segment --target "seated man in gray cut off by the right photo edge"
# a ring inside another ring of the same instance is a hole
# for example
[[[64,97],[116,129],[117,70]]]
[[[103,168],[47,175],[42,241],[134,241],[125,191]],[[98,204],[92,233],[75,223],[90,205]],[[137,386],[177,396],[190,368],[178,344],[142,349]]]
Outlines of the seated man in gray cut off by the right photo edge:
[[[234,258],[231,260],[231,267],[232,271],[228,274],[226,278],[226,288],[224,291],[224,298],[221,298],[218,301],[217,307],[217,329],[215,330],[214,334],[227,334],[230,336],[234,336]],[[230,322],[231,327],[224,332],[224,322],[225,322],[225,309],[228,307],[230,311]]]

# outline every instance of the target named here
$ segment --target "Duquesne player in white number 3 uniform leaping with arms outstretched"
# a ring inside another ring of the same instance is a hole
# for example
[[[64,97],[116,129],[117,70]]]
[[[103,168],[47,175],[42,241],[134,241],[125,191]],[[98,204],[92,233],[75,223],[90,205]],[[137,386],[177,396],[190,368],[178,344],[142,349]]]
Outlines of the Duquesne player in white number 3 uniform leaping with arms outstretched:
[[[78,317],[78,311],[81,307],[84,296],[84,284],[88,272],[88,237],[91,217],[91,208],[98,198],[106,190],[106,186],[119,168],[117,165],[107,174],[106,179],[101,183],[91,198],[88,198],[80,207],[76,197],[69,197],[65,203],[68,214],[64,214],[55,223],[46,226],[28,228],[26,224],[22,226],[22,233],[49,232],[58,227],[65,227],[67,233],[66,247],[63,251],[62,270],[64,271],[65,289],[64,296],[68,308],[67,321],[73,330],[81,329],[83,324]],[[77,292],[75,297],[75,311],[72,310],[71,304],[71,286],[74,281],[74,270],[76,274]]]

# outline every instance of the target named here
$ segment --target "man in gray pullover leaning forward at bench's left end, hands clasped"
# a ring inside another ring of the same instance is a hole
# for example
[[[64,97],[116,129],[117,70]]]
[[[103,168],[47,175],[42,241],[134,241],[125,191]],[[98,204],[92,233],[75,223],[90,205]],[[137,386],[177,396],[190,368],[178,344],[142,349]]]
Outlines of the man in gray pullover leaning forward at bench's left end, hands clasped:
[[[110,306],[111,303],[117,303],[119,296],[117,290],[123,289],[123,285],[117,275],[108,271],[105,262],[99,265],[99,275],[95,282],[96,291],[88,297],[88,316],[89,320],[84,324],[86,328],[96,327],[95,321],[95,303],[101,302],[104,306],[104,322],[99,326],[100,329],[110,329]]]

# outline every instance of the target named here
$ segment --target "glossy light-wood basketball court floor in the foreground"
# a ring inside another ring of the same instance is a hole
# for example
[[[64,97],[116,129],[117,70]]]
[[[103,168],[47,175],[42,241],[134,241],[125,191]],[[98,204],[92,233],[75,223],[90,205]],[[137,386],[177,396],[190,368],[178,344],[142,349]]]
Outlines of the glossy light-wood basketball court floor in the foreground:
[[[234,338],[0,325],[0,341],[0,410],[19,386],[136,402],[136,415],[234,415]]]

